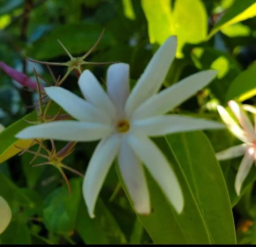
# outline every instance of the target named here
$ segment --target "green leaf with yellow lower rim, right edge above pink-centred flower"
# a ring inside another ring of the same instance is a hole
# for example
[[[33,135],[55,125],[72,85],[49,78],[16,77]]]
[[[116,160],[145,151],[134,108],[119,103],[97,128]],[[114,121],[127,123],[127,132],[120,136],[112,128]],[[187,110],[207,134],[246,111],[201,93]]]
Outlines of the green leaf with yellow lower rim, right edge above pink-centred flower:
[[[227,101],[235,99],[237,101],[244,101],[256,95],[256,63],[253,63],[239,74],[230,84],[227,91]]]

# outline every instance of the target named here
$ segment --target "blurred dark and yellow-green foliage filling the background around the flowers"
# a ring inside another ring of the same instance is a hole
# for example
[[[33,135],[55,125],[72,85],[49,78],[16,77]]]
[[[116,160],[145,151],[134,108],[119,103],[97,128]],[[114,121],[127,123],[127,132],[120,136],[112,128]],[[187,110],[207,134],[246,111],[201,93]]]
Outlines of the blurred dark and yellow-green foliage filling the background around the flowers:
[[[26,59],[66,62],[67,54],[57,39],[77,57],[94,45],[105,28],[88,61],[129,63],[134,84],[159,45],[176,35],[176,59],[164,86],[200,70],[216,69],[218,75],[209,88],[175,112],[219,119],[217,103],[226,106],[230,99],[253,105],[256,102],[255,15],[254,0],[0,0],[0,57],[31,78],[35,67],[38,74],[51,81],[46,66]],[[100,79],[105,78],[107,66],[88,65],[86,69]],[[52,70],[56,77],[66,73],[66,67]],[[80,94],[74,73],[63,87]],[[34,110],[29,106],[35,99],[36,94],[0,71],[1,124],[7,127]],[[227,131],[206,134],[215,151],[238,143]],[[77,144],[65,164],[84,173],[95,145]],[[57,146],[61,148],[63,143],[57,142]],[[67,172],[73,192],[70,197],[57,169],[32,168],[31,159],[25,153],[0,166],[0,195],[13,212],[0,243],[152,243],[120,188],[114,166],[97,202],[97,217],[92,220],[81,196],[82,180]],[[221,167],[233,206],[237,241],[256,243],[256,171],[251,171],[243,196],[237,198],[233,187],[240,161],[221,162]],[[43,161],[38,158],[39,162]]]

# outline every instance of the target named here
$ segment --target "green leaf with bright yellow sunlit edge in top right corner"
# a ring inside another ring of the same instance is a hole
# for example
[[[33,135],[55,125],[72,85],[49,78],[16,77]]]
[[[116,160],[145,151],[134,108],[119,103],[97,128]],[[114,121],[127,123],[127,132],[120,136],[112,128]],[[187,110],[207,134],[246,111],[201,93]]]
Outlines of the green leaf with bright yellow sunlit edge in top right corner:
[[[256,16],[255,0],[235,0],[233,5],[227,10],[224,16],[216,23],[211,30],[208,39],[211,38],[220,29],[229,25],[235,24],[239,21],[246,20]]]

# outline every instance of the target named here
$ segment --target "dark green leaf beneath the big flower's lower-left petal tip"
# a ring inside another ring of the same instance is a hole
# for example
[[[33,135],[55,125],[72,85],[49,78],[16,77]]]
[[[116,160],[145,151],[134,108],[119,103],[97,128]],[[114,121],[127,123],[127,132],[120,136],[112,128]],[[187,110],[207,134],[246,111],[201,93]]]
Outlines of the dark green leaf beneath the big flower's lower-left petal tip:
[[[101,198],[98,198],[95,207],[94,219],[88,215],[84,200],[81,200],[77,230],[86,244],[125,244],[127,240],[118,226],[114,216],[104,205]]]

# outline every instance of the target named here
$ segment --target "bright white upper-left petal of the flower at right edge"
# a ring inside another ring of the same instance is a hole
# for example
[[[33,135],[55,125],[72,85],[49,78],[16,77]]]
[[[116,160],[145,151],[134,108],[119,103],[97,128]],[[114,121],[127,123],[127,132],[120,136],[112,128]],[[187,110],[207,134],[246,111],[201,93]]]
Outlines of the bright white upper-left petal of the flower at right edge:
[[[229,115],[227,110],[223,106],[217,106],[218,113],[220,114],[221,119],[227,125],[229,131],[233,133],[239,140],[244,143],[248,143],[249,140],[245,135],[243,129],[235,122],[235,120]]]

